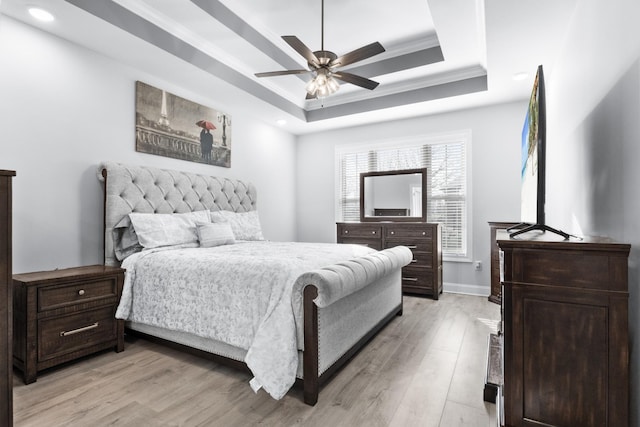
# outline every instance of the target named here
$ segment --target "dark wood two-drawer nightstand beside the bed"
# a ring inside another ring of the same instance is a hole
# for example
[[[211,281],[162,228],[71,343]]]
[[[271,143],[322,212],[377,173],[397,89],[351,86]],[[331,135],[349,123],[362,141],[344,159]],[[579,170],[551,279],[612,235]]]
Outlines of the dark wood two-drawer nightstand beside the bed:
[[[13,275],[13,364],[25,384],[43,369],[124,350],[115,318],[123,284],[123,269],[103,265]]]

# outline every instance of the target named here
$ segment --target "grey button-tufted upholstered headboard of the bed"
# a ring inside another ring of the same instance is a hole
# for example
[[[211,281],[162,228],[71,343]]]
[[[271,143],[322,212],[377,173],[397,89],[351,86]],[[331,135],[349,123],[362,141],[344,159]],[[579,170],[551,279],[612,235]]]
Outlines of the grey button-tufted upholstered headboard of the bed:
[[[105,183],[105,265],[120,264],[114,253],[113,228],[131,212],[256,209],[257,192],[253,184],[229,178],[105,162],[98,168],[98,179]]]

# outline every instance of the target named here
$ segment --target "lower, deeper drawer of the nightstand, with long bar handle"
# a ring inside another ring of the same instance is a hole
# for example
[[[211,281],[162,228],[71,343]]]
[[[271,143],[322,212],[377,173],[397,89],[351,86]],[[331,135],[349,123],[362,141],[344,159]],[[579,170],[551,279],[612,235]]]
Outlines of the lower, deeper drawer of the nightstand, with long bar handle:
[[[112,306],[38,321],[38,362],[116,339]]]

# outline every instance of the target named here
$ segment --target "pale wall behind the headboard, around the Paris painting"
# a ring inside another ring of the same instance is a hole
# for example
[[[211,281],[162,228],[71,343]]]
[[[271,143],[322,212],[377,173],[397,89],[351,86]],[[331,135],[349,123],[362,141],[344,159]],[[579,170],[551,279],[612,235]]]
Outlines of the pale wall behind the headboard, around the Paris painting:
[[[128,67],[6,16],[0,21],[0,169],[17,172],[14,272],[102,263],[96,172],[105,160],[251,181],[265,237],[295,240],[294,136],[227,108],[197,73],[165,80],[162,69]],[[136,80],[229,113],[231,168],[137,153]]]

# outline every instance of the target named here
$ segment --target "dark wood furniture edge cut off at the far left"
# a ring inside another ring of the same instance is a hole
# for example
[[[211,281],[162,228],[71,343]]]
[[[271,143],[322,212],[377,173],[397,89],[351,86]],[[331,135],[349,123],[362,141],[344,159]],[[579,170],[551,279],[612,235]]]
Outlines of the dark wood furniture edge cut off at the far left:
[[[0,170],[0,425],[13,425],[11,180]]]

